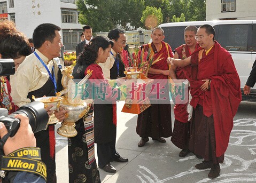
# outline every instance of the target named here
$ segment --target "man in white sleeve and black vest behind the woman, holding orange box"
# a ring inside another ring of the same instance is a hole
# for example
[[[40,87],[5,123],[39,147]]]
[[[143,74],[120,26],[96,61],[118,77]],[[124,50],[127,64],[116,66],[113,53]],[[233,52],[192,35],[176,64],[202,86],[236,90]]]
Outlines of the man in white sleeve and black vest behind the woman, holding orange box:
[[[117,79],[124,77],[125,66],[123,65],[120,53],[126,46],[125,30],[113,29],[108,35],[114,42],[111,49],[110,57],[105,63],[98,63],[102,67],[104,78]],[[97,144],[98,165],[109,173],[117,172],[111,165],[111,161],[120,163],[128,162],[128,158],[121,157],[115,149],[117,138],[117,106],[116,104],[95,104],[94,105],[94,134],[95,143]],[[107,133],[102,133],[102,130]]]

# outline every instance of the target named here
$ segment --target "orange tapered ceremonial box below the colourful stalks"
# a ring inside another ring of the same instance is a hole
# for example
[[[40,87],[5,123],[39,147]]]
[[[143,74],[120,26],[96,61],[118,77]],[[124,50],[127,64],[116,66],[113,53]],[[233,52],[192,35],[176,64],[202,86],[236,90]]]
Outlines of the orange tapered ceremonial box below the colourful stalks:
[[[128,76],[129,76],[129,74],[127,75],[127,78],[131,79]],[[138,76],[136,76],[136,77],[138,77]],[[126,103],[122,108],[122,112],[124,112],[124,113],[140,114],[144,110],[146,110],[147,108],[149,108],[151,106],[150,100],[147,96],[150,93],[151,83],[153,82],[153,79],[146,77],[141,72],[139,72],[139,77],[135,78],[135,79],[137,79],[136,80],[137,88],[133,89],[136,91],[134,94],[134,99],[133,100],[126,99]],[[144,85],[145,90],[142,86],[139,86],[139,85]],[[131,90],[131,89],[127,89],[127,92],[129,92],[129,90]],[[145,92],[145,97],[143,94],[144,92]]]

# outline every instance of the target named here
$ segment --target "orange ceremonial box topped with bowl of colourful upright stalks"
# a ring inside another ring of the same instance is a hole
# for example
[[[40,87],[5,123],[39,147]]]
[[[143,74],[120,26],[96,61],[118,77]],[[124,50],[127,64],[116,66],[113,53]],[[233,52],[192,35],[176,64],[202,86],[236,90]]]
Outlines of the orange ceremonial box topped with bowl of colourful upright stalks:
[[[147,97],[149,87],[153,79],[146,77],[149,68],[153,63],[153,54],[150,51],[138,50],[128,53],[123,50],[121,53],[123,64],[125,65],[125,74],[128,79],[137,79],[133,88],[127,88],[128,93],[134,93],[133,98],[127,98],[122,108],[122,112],[139,114],[151,106]],[[144,94],[146,93],[146,94]]]

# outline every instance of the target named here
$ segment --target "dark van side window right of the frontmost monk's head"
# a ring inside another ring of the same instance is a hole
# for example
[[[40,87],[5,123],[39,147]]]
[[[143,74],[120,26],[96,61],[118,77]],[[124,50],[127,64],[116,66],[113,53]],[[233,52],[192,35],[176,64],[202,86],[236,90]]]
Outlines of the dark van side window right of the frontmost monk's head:
[[[214,27],[215,28],[215,27]],[[249,25],[219,25],[218,41],[228,51],[249,51],[252,42],[248,40]]]

